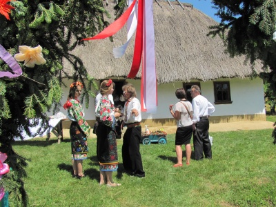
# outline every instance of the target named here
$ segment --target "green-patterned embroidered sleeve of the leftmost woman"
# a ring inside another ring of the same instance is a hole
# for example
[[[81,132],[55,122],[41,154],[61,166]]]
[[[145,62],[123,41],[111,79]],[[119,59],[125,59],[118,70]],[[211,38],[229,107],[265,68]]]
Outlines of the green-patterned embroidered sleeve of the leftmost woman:
[[[72,107],[69,109],[70,114],[74,116],[75,120],[79,124],[79,127],[88,137],[90,135],[90,126],[86,122],[86,119],[84,119],[83,117],[83,108],[81,104],[76,100],[72,100],[71,103]]]

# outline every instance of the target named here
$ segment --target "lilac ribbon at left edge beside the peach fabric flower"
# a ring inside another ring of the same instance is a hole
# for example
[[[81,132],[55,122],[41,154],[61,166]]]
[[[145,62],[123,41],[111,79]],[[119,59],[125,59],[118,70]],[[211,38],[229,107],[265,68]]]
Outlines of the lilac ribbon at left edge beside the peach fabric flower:
[[[1,77],[8,77],[8,78],[14,78],[14,77],[19,77],[22,75],[22,69],[17,63],[17,61],[10,55],[10,53],[3,48],[3,46],[0,45],[0,57],[5,61],[10,68],[12,68],[12,72],[8,71],[0,71],[0,78]]]

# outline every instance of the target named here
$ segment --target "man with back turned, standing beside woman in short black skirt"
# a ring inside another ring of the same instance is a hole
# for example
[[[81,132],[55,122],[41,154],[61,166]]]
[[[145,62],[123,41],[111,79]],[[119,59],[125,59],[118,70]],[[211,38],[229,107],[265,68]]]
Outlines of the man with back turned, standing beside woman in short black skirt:
[[[208,117],[215,111],[215,107],[205,97],[201,96],[199,86],[192,86],[190,93],[193,97],[193,141],[195,159],[204,159],[204,155],[206,158],[211,159],[212,147],[209,139]]]

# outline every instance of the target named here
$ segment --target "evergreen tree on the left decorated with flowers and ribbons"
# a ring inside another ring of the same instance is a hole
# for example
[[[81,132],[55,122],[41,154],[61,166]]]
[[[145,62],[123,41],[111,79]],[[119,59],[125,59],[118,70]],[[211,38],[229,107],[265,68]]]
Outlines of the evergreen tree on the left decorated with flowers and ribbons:
[[[91,37],[108,25],[105,17],[109,14],[103,3],[0,0],[0,151],[8,155],[6,162],[12,168],[0,185],[6,186],[18,204],[28,205],[22,181],[27,162],[14,152],[12,142],[15,137],[23,139],[23,131],[30,135],[29,127],[37,125],[39,119],[41,126],[47,126],[46,112],[55,113],[60,108],[62,78],[68,77],[63,59],[72,64],[72,79],[86,80],[81,101],[85,100],[88,107],[97,85],[71,51],[84,43],[80,41],[83,37]],[[118,15],[124,6],[125,1],[118,2]],[[4,58],[6,51],[12,57],[9,60]],[[19,63],[22,72],[14,70],[9,61]]]

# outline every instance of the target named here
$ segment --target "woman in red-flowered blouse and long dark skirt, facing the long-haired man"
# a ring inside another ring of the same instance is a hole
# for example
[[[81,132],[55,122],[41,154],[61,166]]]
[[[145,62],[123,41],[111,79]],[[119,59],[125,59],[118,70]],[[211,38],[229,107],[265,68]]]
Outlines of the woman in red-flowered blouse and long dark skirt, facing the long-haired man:
[[[101,99],[96,108],[99,113],[99,126],[97,127],[97,158],[99,161],[100,181],[99,184],[115,187],[121,184],[115,184],[112,180],[112,172],[118,169],[117,141],[115,132],[115,119],[120,114],[115,112],[114,104],[108,99],[108,95],[113,92],[112,80],[105,80],[101,83]]]

